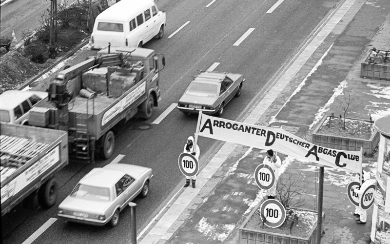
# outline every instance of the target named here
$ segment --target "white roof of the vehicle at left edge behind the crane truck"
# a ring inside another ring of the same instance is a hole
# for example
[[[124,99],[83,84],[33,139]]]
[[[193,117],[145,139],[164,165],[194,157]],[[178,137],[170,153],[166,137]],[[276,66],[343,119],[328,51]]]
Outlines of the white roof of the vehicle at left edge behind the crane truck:
[[[5,110],[14,109],[17,105],[34,94],[42,99],[48,96],[47,92],[42,91],[8,90],[0,95],[0,108]]]

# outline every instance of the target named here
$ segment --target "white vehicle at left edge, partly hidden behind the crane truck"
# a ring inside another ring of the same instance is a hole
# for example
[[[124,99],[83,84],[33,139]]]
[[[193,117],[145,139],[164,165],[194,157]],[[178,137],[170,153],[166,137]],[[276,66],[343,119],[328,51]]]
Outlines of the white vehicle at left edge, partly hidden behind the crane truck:
[[[27,124],[29,111],[48,97],[47,92],[8,90],[0,95],[0,121]]]

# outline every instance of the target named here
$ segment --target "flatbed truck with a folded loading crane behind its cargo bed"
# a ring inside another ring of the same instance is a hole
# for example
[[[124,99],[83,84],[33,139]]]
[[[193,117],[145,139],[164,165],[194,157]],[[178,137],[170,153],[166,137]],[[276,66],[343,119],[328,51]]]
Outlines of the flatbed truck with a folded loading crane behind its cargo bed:
[[[119,122],[151,118],[161,100],[164,66],[165,58],[152,49],[103,49],[57,74],[47,90],[47,105],[30,111],[29,124],[67,131],[75,162],[93,163],[96,153],[108,159]]]

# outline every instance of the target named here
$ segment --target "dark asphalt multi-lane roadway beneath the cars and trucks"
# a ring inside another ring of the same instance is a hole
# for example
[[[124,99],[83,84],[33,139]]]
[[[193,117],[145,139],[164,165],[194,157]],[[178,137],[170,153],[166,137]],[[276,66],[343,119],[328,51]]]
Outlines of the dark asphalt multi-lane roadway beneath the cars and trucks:
[[[225,107],[222,116],[236,120],[246,112],[256,96],[270,88],[267,84],[273,76],[310,38],[312,31],[332,7],[343,1],[284,0],[273,8],[276,2],[156,2],[160,10],[167,13],[165,35],[162,40],[153,40],[144,47],[163,53],[167,66],[161,72],[162,101],[155,109],[154,116],[146,122],[153,122],[172,103],[176,103],[192,76],[214,63],[219,63],[215,67],[216,71],[241,73],[246,79],[241,96],[234,98]],[[238,45],[234,45],[248,30],[252,32]],[[154,170],[155,177],[151,182],[149,196],[134,201],[137,203],[138,233],[184,183],[184,177],[177,167],[177,157],[187,137],[195,133],[196,116],[186,116],[175,109],[159,124],[151,124],[148,130],[138,129],[137,124],[143,122],[132,120],[126,125],[117,137],[114,153],[114,157],[117,154],[126,155],[123,159],[125,163],[145,165]],[[204,138],[198,142],[202,164],[207,162],[219,142]],[[78,180],[93,167],[109,162],[71,163],[64,168],[57,176],[60,184],[57,204],[49,210],[16,207],[14,212],[2,218],[3,243],[23,243],[50,218],[57,218],[58,204]],[[119,224],[115,228],[66,223],[59,219],[40,234],[34,243],[129,243],[130,239],[130,209],[126,208],[121,212]]]

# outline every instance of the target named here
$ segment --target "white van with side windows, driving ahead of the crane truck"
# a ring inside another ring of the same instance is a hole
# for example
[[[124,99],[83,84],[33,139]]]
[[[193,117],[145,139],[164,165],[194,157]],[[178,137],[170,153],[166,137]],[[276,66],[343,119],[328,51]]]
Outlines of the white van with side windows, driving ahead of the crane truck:
[[[98,15],[91,34],[91,49],[114,46],[141,47],[164,35],[166,14],[153,0],[121,0]]]

